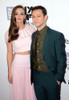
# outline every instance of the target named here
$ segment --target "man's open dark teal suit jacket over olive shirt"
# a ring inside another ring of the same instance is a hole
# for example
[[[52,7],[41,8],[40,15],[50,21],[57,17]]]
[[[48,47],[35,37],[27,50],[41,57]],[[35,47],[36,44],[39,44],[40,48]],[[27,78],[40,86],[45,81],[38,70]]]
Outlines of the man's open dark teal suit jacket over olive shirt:
[[[37,33],[38,34],[38,33]],[[33,81],[33,41],[36,32],[32,35],[31,44],[31,81]],[[48,69],[55,73],[55,79],[64,81],[64,73],[66,68],[65,39],[62,33],[52,30],[48,27],[42,48],[43,60]]]

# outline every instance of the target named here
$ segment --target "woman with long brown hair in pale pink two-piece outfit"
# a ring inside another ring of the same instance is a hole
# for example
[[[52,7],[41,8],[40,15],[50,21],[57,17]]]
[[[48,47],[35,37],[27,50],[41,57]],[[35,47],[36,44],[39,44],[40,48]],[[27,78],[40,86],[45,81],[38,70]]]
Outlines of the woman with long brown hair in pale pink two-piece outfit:
[[[30,83],[30,45],[35,29],[25,21],[24,8],[21,5],[14,7],[9,31],[5,34],[11,100],[36,100]]]

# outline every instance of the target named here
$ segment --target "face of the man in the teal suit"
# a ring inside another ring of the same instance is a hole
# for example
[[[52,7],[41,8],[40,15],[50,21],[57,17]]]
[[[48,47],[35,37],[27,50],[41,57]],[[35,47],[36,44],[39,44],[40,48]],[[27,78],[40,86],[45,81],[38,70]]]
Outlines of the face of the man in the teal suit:
[[[37,9],[32,12],[32,20],[33,20],[33,24],[37,28],[40,28],[46,24],[47,15],[44,16],[42,10]]]

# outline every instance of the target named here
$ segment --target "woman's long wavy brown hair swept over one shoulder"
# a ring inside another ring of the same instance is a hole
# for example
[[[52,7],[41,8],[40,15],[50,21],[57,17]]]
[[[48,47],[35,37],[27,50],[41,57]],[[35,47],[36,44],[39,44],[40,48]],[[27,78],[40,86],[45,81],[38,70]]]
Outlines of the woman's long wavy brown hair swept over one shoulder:
[[[15,12],[16,12],[16,9],[18,8],[22,8],[25,11],[25,9],[21,5],[17,5],[13,8],[12,14],[11,14],[10,27],[9,27],[8,42],[16,40],[19,37],[19,34],[18,34],[19,28],[16,25],[16,18],[15,18]],[[25,24],[25,22],[26,22],[26,19],[23,21],[23,24]]]

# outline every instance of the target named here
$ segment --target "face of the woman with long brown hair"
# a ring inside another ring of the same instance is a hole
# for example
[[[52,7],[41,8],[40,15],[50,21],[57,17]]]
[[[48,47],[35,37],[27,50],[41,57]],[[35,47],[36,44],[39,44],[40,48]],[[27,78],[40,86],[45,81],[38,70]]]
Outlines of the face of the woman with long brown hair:
[[[16,23],[23,23],[26,18],[25,11],[22,8],[17,8],[15,11]]]

